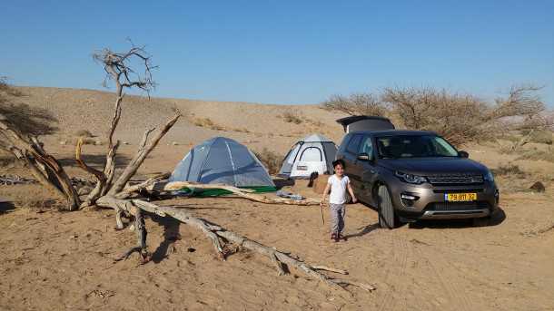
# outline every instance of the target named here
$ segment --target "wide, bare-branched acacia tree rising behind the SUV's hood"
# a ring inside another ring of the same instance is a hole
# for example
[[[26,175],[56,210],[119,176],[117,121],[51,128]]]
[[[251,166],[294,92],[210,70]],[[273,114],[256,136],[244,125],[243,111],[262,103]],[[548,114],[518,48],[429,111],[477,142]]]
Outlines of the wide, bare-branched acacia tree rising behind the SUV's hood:
[[[488,103],[471,94],[425,88],[387,88],[381,95],[402,124],[413,130],[437,131],[454,144],[494,138],[517,127],[540,128],[544,103],[532,85],[513,86],[506,98]],[[514,119],[523,119],[514,122]]]

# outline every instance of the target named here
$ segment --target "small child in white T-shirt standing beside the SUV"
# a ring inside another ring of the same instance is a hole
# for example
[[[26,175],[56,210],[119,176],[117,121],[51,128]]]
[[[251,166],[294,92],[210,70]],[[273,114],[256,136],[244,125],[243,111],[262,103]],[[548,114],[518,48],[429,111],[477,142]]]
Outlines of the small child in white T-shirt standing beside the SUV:
[[[325,187],[325,190],[323,191],[321,205],[323,206],[323,203],[325,203],[325,197],[327,197],[327,193],[331,190],[331,195],[329,196],[329,208],[331,210],[331,239],[338,242],[342,238],[342,230],[344,229],[344,214],[346,213],[344,204],[346,203],[346,190],[348,190],[351,195],[352,203],[356,203],[358,199],[354,196],[348,176],[344,176],[344,161],[335,160],[332,162],[332,166],[335,170],[335,174],[331,175],[329,180],[327,180],[327,187]]]

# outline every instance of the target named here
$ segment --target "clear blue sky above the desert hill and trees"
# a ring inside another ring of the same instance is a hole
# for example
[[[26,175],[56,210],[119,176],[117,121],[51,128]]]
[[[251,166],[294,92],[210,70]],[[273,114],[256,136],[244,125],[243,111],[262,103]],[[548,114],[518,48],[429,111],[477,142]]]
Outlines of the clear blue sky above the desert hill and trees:
[[[554,107],[554,1],[10,1],[0,75],[102,89],[91,53],[146,44],[153,96],[314,103],[434,86],[500,96],[544,85]]]

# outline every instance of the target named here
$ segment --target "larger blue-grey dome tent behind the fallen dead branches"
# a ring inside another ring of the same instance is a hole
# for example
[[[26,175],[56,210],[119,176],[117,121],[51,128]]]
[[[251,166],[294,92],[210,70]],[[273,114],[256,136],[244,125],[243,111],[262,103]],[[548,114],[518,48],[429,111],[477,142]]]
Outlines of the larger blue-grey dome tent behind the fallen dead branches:
[[[223,183],[258,191],[275,190],[262,162],[244,145],[225,137],[214,137],[194,146],[177,164],[169,180]],[[224,194],[225,191],[215,192],[210,195]]]

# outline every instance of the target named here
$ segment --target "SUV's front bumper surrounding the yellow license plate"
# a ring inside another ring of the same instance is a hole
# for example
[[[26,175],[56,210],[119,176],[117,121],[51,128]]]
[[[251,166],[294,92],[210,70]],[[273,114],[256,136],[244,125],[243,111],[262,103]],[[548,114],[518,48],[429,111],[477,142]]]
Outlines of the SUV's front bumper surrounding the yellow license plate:
[[[391,199],[402,219],[473,219],[489,216],[498,208],[499,191],[494,182],[479,185],[432,186],[394,183]],[[446,193],[472,192],[477,199],[470,202],[449,202]],[[405,199],[405,198],[414,199]],[[402,199],[404,198],[404,199]]]

